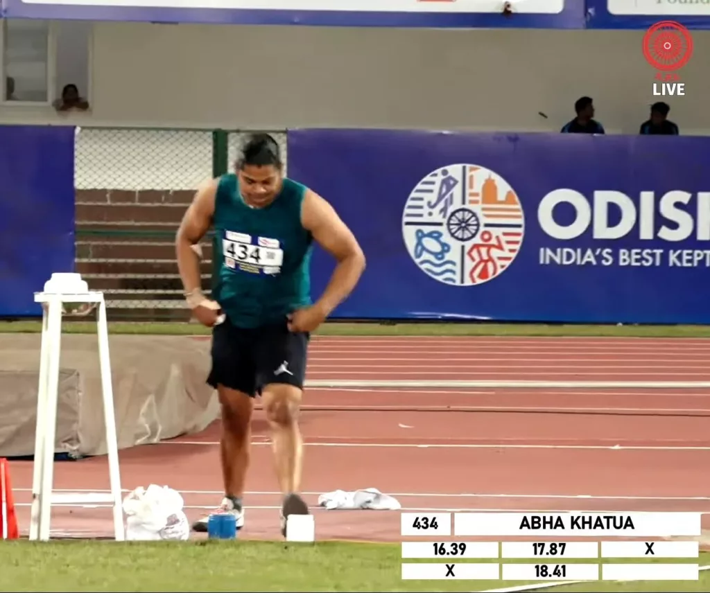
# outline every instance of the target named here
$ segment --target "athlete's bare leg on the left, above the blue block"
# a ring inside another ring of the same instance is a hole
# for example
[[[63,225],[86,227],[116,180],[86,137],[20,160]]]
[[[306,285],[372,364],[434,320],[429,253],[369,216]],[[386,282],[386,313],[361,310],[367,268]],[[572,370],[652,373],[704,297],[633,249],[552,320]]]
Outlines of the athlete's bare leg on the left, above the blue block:
[[[241,499],[244,496],[244,481],[249,467],[249,440],[252,398],[244,392],[217,387],[219,403],[222,404],[222,438],[219,453],[222,460],[224,494]]]

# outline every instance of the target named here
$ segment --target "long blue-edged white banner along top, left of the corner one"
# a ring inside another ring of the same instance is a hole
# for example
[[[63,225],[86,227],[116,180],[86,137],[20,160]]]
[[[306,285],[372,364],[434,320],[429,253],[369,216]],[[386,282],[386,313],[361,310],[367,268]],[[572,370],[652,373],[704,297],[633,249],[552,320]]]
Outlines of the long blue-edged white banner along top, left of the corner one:
[[[8,18],[432,28],[584,28],[585,0],[3,0]]]

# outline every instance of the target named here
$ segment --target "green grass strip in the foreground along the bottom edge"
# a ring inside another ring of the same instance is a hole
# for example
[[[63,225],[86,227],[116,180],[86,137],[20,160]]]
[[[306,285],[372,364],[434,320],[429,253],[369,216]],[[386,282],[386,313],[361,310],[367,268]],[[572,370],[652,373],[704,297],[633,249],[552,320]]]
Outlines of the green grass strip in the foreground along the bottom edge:
[[[16,541],[0,545],[0,591],[477,592],[525,584],[500,580],[403,581],[402,561],[398,544],[382,543]],[[701,553],[698,561],[700,565],[710,563],[710,554]],[[692,582],[600,581],[554,590],[710,591],[709,571],[700,574],[701,580]]]

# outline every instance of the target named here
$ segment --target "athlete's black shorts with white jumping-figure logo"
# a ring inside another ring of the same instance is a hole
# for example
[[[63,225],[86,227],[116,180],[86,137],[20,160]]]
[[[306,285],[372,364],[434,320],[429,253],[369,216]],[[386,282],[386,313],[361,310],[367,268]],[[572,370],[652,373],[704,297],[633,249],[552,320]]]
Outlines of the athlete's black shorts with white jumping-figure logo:
[[[212,370],[207,383],[238,389],[251,397],[273,383],[303,388],[309,333],[288,331],[286,322],[238,328],[229,319],[212,329]]]

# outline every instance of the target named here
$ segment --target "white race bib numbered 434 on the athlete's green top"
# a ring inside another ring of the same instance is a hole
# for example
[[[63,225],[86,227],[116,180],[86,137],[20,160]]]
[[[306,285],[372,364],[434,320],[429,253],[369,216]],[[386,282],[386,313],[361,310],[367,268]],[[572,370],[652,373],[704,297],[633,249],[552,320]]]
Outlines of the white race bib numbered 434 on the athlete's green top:
[[[252,238],[244,233],[227,231],[222,240],[222,253],[224,265],[239,272],[276,275],[283,265],[279,241],[268,237]]]

